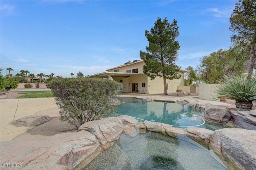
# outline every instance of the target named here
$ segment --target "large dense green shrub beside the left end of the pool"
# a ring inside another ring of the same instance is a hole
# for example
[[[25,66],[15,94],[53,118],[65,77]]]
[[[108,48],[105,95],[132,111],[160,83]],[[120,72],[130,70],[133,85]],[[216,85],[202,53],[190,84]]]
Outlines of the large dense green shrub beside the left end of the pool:
[[[77,128],[114,113],[122,84],[100,78],[62,78],[47,84],[52,89],[60,119]]]

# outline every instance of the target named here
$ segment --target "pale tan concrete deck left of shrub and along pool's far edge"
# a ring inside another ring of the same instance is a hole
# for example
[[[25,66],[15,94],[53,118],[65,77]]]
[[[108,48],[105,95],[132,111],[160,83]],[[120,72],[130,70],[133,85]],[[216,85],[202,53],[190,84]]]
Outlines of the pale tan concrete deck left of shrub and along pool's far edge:
[[[215,104],[215,105],[226,105],[230,104],[218,102],[200,100],[196,96],[163,96],[163,95],[152,95],[152,94],[134,94],[134,93],[123,93],[122,97],[136,97],[145,98],[153,97],[156,100],[165,101],[176,101],[176,100],[189,100],[190,104]],[[12,140],[16,136],[34,128],[34,127],[16,127],[9,124],[13,120],[17,120],[28,115],[48,115],[50,117],[58,117],[58,106],[54,102],[54,98],[22,98],[22,99],[1,99],[0,100],[0,141]]]

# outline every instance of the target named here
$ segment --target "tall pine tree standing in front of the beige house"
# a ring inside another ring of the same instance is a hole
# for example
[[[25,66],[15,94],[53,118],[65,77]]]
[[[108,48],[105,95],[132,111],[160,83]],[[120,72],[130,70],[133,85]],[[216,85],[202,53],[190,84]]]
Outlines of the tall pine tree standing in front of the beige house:
[[[178,41],[177,21],[173,20],[170,24],[165,18],[161,18],[155,22],[155,26],[145,31],[145,36],[148,40],[146,52],[140,50],[140,58],[145,62],[143,72],[151,80],[156,76],[162,77],[164,80],[164,95],[168,95],[166,79],[173,80],[181,77],[178,74],[180,67],[175,64],[178,59],[178,50],[180,49]]]

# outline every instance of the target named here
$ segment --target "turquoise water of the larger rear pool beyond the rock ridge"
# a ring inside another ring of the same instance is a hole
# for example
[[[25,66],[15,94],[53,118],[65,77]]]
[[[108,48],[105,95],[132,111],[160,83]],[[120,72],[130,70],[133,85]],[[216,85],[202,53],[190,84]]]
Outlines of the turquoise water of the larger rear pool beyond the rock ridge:
[[[204,121],[203,112],[192,109],[188,104],[172,102],[144,102],[131,97],[121,98],[122,104],[116,109],[116,116],[128,115],[139,122],[152,121],[170,124],[177,128],[189,126],[218,130],[225,125],[209,124]]]

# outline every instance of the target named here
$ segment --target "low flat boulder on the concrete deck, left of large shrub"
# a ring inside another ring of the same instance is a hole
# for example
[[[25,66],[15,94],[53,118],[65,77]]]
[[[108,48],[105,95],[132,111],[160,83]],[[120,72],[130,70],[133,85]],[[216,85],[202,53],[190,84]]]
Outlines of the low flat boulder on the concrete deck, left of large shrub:
[[[10,124],[15,125],[15,126],[38,126],[38,125],[48,122],[50,120],[52,120],[52,118],[50,116],[29,115],[29,116],[25,116],[23,118],[14,120],[14,121],[10,122]]]

